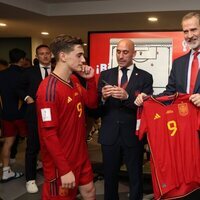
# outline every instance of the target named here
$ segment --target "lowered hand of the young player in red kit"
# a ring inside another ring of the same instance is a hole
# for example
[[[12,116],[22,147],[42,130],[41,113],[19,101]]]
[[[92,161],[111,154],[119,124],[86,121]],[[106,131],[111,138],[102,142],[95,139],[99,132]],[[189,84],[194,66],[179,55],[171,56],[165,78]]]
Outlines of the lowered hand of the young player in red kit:
[[[61,183],[63,188],[73,189],[76,186],[74,173],[70,171],[61,176]]]

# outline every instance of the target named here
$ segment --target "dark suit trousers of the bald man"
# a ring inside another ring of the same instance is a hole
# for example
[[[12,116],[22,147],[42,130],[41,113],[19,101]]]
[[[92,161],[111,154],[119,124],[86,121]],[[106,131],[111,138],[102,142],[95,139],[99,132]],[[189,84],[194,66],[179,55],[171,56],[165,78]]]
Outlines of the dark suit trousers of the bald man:
[[[128,147],[118,140],[113,145],[102,145],[104,165],[104,200],[118,200],[118,174],[121,163],[126,165],[129,176],[130,199],[142,200],[143,145]]]

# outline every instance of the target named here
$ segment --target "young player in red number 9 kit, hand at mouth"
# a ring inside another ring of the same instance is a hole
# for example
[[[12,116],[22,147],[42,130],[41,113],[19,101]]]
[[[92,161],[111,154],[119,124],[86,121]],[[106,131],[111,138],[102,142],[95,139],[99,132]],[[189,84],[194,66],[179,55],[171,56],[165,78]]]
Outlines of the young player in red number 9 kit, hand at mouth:
[[[95,199],[93,173],[88,158],[84,106],[97,106],[94,69],[84,65],[81,39],[60,35],[50,48],[54,71],[37,92],[37,113],[44,169],[43,200]],[[87,90],[72,75],[86,79]]]

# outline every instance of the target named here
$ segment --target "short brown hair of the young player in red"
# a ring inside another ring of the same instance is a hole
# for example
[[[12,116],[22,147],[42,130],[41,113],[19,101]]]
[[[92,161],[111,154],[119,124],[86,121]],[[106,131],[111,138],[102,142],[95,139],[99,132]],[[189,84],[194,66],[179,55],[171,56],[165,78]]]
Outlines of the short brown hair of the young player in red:
[[[58,35],[50,44],[50,49],[55,57],[58,60],[58,54],[61,51],[70,52],[73,51],[75,45],[83,46],[83,41],[81,38],[73,37],[70,35]]]

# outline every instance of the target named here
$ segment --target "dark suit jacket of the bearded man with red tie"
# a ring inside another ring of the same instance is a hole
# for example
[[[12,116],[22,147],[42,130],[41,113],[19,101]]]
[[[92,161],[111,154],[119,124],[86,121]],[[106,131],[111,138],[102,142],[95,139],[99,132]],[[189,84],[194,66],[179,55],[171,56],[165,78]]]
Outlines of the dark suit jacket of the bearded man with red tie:
[[[174,60],[170,72],[168,84],[164,93],[174,94],[175,92],[187,93],[187,79],[190,53],[187,53]],[[200,93],[200,72],[193,93]]]

